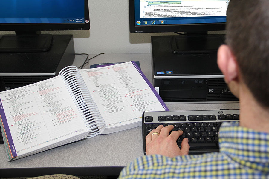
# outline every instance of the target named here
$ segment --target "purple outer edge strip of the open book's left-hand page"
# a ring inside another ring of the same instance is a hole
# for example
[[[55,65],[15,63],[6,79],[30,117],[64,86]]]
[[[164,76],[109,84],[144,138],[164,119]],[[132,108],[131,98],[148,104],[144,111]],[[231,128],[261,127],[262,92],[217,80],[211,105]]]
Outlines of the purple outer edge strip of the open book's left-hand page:
[[[1,124],[2,124],[3,130],[4,130],[4,131],[2,131],[2,134],[3,134],[3,137],[6,138],[6,140],[7,140],[7,143],[5,145],[11,152],[11,155],[12,155],[11,158],[17,157],[16,149],[15,149],[15,146],[14,146],[14,143],[12,140],[10,129],[8,127],[8,124],[7,124],[7,118],[6,118],[6,115],[4,112],[4,108],[2,105],[1,99],[0,99],[0,116],[1,116]]]

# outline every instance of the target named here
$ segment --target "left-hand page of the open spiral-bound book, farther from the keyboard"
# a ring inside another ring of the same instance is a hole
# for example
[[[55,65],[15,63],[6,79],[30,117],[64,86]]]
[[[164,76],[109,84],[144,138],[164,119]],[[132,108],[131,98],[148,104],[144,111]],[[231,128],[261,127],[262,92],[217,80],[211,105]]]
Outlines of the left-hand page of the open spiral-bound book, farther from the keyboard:
[[[12,157],[88,132],[59,76],[0,92],[0,99]]]

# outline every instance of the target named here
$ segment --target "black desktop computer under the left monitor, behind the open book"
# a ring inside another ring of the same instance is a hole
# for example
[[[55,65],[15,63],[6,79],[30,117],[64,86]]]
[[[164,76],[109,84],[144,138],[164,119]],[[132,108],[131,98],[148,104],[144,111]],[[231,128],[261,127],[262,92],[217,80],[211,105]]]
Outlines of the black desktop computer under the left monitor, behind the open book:
[[[73,35],[53,35],[46,52],[0,53],[0,91],[33,84],[59,74],[75,58]]]

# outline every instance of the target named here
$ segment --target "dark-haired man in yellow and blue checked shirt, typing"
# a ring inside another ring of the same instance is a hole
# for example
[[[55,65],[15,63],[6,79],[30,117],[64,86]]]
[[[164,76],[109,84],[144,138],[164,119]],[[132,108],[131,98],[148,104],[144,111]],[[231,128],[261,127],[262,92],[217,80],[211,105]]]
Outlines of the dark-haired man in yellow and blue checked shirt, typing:
[[[187,139],[181,150],[176,144],[182,131],[169,135],[173,126],[159,126],[146,137],[147,155],[119,178],[269,178],[268,7],[268,0],[231,0],[227,10],[218,66],[239,98],[240,122],[222,124],[220,152],[187,155]]]

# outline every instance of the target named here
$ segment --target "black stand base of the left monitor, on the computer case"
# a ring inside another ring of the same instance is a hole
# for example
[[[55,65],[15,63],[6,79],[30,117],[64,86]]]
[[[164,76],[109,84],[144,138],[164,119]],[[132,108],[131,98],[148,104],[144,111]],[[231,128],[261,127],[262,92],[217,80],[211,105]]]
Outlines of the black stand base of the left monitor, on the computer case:
[[[2,35],[0,52],[46,52],[53,42],[51,34],[40,34],[40,31],[16,32],[16,35]]]

